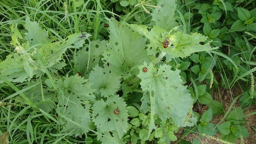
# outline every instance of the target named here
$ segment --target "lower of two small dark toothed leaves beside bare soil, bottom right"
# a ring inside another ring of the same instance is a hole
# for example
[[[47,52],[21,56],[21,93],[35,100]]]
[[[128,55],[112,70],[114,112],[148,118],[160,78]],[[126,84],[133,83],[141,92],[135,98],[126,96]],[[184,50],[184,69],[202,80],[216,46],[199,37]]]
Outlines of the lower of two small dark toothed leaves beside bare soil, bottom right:
[[[204,138],[204,136],[202,136],[201,134],[206,134],[208,136],[214,136],[219,133],[218,129],[216,128],[216,125],[213,123],[207,123],[206,126],[199,124],[198,131],[200,133],[200,138]]]

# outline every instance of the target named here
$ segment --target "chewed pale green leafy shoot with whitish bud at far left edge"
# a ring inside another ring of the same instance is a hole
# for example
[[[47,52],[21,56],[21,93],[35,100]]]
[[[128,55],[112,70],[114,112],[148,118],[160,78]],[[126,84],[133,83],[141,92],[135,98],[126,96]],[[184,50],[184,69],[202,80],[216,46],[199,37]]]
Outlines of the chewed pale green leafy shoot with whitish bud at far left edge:
[[[68,48],[80,48],[84,43],[84,38],[79,38],[81,34],[72,34],[62,41],[53,42],[54,38],[49,39],[48,32],[40,28],[37,22],[31,22],[28,17],[25,28],[28,30],[25,33],[27,42],[20,44],[18,39],[22,39],[22,35],[17,28],[11,27],[11,44],[15,47],[15,53],[0,63],[0,76],[10,82],[24,82],[34,75],[41,76],[44,74],[42,67],[50,68],[58,64]]]

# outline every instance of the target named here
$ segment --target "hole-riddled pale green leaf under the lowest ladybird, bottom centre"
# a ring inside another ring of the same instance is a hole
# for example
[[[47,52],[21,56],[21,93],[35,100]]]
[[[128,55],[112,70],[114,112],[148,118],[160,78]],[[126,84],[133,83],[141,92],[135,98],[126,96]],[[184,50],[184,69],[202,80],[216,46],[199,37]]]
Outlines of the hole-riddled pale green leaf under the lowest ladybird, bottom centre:
[[[101,132],[118,132],[119,138],[127,132],[128,128],[128,110],[126,110],[124,99],[116,96],[109,96],[104,100],[97,100],[92,106],[92,121]],[[118,109],[119,114],[114,110]]]

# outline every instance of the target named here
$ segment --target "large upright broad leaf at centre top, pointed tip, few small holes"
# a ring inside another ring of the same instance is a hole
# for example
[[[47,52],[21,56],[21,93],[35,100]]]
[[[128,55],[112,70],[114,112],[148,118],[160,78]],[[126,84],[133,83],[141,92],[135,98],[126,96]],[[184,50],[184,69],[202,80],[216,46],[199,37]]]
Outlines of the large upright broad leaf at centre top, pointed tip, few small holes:
[[[109,70],[118,78],[126,79],[139,73],[133,67],[143,64],[143,61],[149,62],[145,49],[146,38],[134,32],[127,24],[118,24],[114,18],[111,20],[109,50],[103,53],[102,60],[109,63]]]

